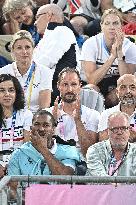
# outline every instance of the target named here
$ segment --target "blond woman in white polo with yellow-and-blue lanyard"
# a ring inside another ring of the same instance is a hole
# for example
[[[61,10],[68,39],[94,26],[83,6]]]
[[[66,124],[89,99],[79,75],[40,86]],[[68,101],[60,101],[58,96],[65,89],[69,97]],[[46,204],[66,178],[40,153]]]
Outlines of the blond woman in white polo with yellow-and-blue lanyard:
[[[11,74],[19,80],[24,89],[26,108],[36,112],[50,106],[52,72],[32,62],[33,48],[33,39],[28,31],[20,30],[14,34],[11,42],[14,62],[1,68],[0,74]]]

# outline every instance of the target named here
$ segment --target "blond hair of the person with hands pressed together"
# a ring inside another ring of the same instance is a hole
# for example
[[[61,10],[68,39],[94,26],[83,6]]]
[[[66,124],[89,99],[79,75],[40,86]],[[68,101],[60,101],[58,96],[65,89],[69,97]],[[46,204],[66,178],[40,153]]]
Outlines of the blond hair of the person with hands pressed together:
[[[119,19],[120,19],[120,22],[121,23],[123,22],[123,18],[122,18],[121,13],[117,9],[111,8],[111,9],[107,9],[107,10],[104,11],[104,13],[103,13],[103,15],[101,17],[101,24],[103,24],[104,19],[106,18],[106,16],[108,16],[110,14],[114,14],[114,15],[118,16]]]

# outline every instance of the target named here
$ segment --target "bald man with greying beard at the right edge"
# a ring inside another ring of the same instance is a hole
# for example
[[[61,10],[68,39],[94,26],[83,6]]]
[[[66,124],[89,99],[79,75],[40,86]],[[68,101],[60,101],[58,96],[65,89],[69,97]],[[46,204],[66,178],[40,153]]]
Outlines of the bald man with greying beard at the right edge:
[[[136,77],[125,74],[117,80],[117,96],[119,104],[102,112],[99,120],[99,141],[108,137],[108,117],[110,114],[121,111],[130,118],[130,141],[136,142]]]

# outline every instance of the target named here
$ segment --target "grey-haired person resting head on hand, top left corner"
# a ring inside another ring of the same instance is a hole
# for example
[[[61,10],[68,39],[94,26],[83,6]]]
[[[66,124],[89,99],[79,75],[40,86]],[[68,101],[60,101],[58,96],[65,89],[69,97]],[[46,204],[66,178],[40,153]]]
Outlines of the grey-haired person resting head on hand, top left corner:
[[[40,35],[34,26],[37,8],[33,0],[5,0],[2,10],[7,21],[3,25],[5,34],[27,30],[32,34],[35,45],[39,42]]]

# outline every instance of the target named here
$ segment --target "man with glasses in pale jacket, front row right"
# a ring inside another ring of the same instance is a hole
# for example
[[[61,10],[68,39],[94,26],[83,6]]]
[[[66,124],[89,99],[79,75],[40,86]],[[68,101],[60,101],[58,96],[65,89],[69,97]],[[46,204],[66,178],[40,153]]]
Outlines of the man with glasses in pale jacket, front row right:
[[[129,143],[129,116],[115,112],[108,118],[109,139],[98,142],[87,151],[87,175],[135,176],[136,144]]]

